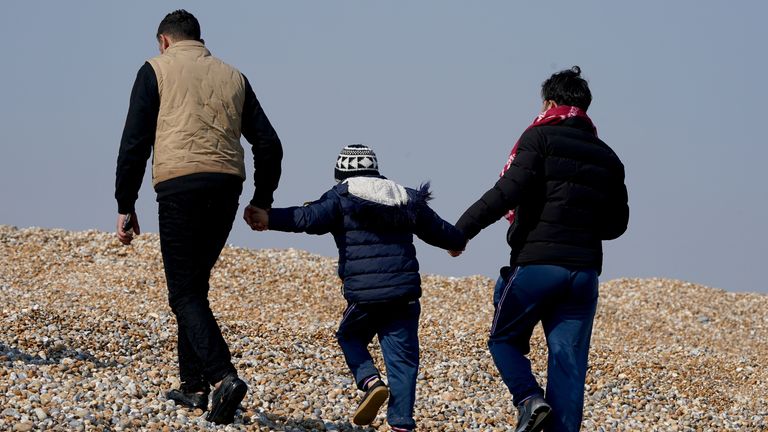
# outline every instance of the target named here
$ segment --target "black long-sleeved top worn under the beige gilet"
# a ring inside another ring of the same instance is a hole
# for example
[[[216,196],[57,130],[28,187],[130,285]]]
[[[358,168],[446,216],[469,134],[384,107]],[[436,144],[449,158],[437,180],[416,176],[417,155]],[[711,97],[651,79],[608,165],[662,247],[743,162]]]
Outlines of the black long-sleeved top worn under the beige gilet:
[[[269,208],[272,205],[273,193],[280,181],[283,147],[275,129],[261,108],[251,84],[245,76],[243,79],[245,80],[245,102],[241,133],[251,144],[254,167],[255,190],[250,203],[256,207]],[[120,214],[134,212],[147,160],[155,143],[159,111],[160,92],[157,76],[152,66],[144,63],[133,84],[117,157],[115,199],[117,211]],[[230,174],[202,173],[177,177],[158,183],[155,190],[158,195],[188,190],[200,184],[201,181],[215,180],[221,176],[230,176]]]

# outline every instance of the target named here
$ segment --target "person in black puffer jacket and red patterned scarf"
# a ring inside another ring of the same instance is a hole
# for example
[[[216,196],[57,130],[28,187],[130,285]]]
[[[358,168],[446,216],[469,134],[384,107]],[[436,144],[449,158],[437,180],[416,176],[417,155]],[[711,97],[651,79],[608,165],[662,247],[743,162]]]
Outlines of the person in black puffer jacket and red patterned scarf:
[[[541,94],[542,113],[501,178],[456,227],[471,239],[514,210],[507,234],[513,271],[498,284],[488,346],[518,407],[516,431],[578,431],[601,242],[624,233],[629,207],[624,166],[586,114],[592,95],[581,70],[552,75]],[[546,392],[526,358],[539,321],[549,350]]]

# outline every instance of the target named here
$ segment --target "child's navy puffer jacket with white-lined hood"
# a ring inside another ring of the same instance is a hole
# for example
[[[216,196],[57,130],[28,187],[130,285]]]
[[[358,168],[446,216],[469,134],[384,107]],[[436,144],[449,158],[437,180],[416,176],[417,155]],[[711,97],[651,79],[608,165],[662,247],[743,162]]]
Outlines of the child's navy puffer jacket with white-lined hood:
[[[333,234],[348,301],[409,301],[421,296],[413,234],[448,250],[466,244],[429,199],[429,185],[415,190],[383,177],[352,177],[313,203],[270,210],[269,229]]]

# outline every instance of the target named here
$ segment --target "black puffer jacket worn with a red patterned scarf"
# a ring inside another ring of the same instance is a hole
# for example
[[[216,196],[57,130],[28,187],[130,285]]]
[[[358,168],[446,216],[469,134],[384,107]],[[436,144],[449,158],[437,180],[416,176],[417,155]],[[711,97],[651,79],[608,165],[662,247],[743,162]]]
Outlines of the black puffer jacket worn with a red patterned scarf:
[[[467,238],[516,211],[512,265],[602,269],[602,240],[627,229],[624,165],[584,120],[527,130],[510,169],[459,218]]]

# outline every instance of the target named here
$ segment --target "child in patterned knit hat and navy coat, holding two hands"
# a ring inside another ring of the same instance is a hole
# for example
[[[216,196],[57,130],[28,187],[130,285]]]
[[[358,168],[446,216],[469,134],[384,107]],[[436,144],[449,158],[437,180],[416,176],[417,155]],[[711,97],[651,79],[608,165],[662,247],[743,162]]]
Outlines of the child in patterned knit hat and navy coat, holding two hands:
[[[368,425],[389,397],[393,431],[416,427],[413,405],[419,368],[421,277],[413,234],[443,249],[464,249],[464,235],[427,205],[429,185],[404,188],[378,171],[376,154],[361,144],[336,160],[338,184],[304,207],[272,209],[268,229],[333,234],[344,282],[344,310],[336,337],[357,387],[365,392],[352,418]],[[389,387],[368,352],[379,337]],[[391,393],[391,394],[390,394]]]

